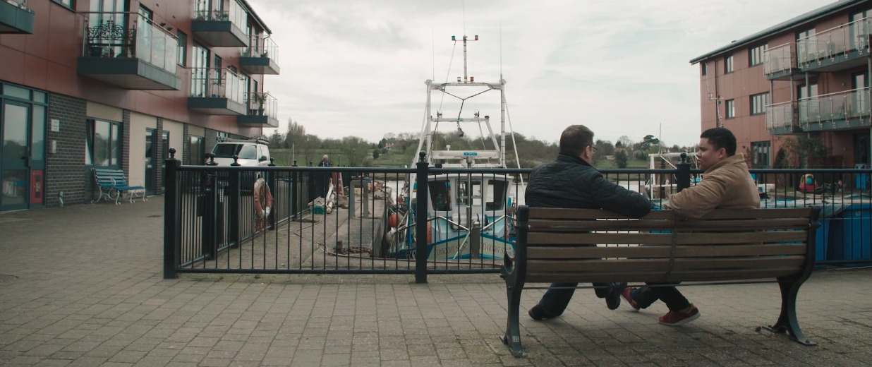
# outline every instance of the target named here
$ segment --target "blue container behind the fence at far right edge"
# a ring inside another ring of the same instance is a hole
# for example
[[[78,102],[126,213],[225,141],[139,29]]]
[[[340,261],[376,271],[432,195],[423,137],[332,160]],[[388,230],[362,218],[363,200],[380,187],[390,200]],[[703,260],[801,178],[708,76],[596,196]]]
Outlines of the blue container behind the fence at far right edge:
[[[872,259],[872,204],[849,204],[830,228],[832,260]],[[869,264],[847,264],[861,266]]]

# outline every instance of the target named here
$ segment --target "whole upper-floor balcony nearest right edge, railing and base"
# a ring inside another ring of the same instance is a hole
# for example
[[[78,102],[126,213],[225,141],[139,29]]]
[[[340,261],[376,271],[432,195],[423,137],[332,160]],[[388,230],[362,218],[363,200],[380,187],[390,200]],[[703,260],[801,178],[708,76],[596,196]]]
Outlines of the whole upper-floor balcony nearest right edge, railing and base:
[[[822,31],[796,41],[802,71],[841,71],[866,65],[869,58],[869,18]]]

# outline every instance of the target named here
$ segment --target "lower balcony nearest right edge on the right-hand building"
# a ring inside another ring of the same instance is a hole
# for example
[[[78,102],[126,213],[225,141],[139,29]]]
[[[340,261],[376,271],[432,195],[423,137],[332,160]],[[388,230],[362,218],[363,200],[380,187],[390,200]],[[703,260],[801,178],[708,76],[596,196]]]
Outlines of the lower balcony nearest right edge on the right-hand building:
[[[869,87],[800,99],[800,126],[805,132],[869,126]]]

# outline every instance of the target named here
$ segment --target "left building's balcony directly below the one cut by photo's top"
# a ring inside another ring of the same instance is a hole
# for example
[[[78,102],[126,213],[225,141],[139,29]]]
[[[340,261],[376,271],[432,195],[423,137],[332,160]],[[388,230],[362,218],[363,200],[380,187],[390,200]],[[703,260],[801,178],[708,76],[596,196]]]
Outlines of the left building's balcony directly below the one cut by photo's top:
[[[247,115],[248,80],[221,68],[191,68],[191,97],[187,108],[210,115]]]

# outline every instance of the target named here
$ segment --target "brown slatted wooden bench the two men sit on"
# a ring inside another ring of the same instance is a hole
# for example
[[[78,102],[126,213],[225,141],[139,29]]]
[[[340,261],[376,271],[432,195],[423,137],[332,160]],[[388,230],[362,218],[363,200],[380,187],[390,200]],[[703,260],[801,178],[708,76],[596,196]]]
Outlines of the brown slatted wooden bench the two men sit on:
[[[524,355],[521,291],[548,289],[525,286],[529,282],[630,282],[633,287],[778,282],[781,314],[766,329],[814,344],[803,336],[795,307],[800,285],[814,267],[819,209],[716,209],[699,220],[679,219],[671,210],[655,210],[642,219],[601,209],[522,206],[518,214],[517,244],[501,269],[508,293],[501,340],[515,357]]]

